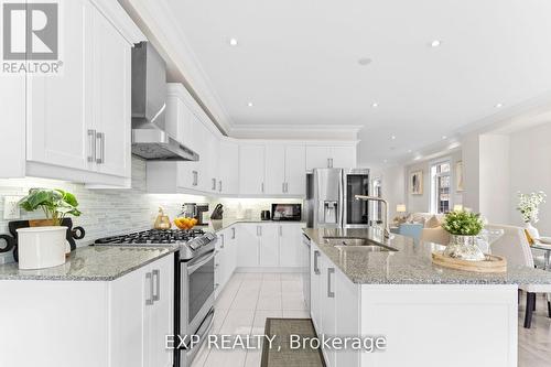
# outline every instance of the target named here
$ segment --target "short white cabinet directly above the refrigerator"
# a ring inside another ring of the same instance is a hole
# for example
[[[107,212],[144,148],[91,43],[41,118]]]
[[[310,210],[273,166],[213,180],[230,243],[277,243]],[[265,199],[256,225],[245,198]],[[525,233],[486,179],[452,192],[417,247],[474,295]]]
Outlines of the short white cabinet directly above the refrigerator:
[[[356,145],[307,145],[306,170],[356,168]]]

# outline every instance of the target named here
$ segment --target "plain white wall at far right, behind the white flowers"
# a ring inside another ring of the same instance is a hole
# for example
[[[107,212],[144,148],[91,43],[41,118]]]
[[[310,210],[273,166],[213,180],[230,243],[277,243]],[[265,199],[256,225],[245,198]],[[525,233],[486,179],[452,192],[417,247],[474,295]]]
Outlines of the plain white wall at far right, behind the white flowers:
[[[521,225],[517,192],[545,192],[548,201],[540,207],[536,227],[542,236],[551,236],[551,122],[514,132],[510,136],[510,223]]]

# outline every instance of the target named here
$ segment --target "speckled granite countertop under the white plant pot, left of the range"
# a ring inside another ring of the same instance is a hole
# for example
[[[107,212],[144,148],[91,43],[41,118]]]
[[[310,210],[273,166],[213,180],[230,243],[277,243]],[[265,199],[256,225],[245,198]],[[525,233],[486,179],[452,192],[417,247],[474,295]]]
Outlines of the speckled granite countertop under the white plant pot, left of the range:
[[[0,266],[0,280],[111,281],[179,250],[177,246],[86,246],[72,251],[65,265],[20,270]]]

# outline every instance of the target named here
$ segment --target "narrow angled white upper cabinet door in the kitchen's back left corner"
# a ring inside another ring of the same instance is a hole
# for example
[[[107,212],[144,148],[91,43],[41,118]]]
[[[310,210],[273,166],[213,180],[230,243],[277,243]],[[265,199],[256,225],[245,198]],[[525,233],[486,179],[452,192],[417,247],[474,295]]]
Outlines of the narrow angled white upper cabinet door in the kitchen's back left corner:
[[[239,192],[239,145],[220,141],[218,158],[218,194],[234,195]]]

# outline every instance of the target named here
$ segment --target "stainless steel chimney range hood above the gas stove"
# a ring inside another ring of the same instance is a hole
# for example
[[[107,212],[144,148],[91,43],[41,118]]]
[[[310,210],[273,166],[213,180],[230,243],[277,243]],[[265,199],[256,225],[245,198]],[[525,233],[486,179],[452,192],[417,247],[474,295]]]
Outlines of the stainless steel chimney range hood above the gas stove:
[[[164,130],[166,63],[148,42],[132,48],[132,154],[150,161],[198,161]]]

